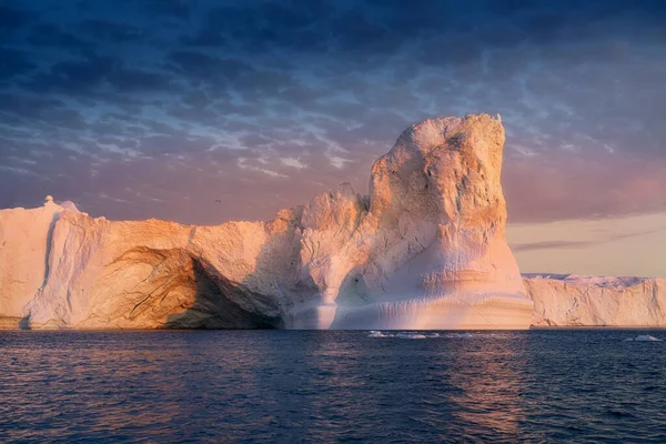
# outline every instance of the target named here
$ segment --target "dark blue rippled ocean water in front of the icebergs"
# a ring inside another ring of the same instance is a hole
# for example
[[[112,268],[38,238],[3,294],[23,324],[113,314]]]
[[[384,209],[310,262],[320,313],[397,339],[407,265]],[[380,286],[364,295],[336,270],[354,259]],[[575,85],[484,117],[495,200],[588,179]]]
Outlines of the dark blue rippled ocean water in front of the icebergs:
[[[664,443],[638,334],[0,332],[0,442]]]

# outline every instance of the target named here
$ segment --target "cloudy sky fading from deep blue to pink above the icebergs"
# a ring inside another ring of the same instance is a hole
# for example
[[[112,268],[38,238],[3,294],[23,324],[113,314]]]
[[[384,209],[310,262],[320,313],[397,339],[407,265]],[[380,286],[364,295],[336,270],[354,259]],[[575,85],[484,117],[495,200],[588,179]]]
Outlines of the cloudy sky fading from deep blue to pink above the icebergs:
[[[268,220],[476,112],[523,271],[666,278],[666,1],[0,0],[0,208]]]

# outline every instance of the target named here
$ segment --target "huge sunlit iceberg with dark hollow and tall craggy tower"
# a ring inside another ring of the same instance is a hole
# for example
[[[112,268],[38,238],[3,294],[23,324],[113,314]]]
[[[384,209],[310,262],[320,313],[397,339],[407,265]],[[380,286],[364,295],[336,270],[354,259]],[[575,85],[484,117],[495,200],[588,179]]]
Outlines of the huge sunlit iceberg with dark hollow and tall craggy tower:
[[[0,211],[0,315],[32,329],[524,329],[504,129],[486,114],[405,130],[349,184],[270,222],[112,222],[52,200]]]

